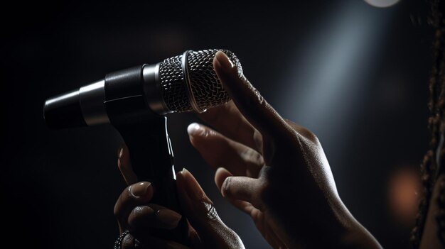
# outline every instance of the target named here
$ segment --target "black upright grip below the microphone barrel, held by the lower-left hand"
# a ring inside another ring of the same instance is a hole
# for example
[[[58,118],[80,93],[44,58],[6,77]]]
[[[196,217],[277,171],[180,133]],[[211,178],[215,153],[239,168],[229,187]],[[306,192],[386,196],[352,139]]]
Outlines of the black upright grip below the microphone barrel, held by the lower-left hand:
[[[138,122],[114,127],[122,135],[129,149],[132,168],[138,181],[151,182],[154,188],[154,197],[150,202],[182,214],[176,192],[176,170],[166,122],[166,116],[154,114],[142,116]],[[151,234],[190,246],[185,216],[182,216],[177,228],[153,229]]]

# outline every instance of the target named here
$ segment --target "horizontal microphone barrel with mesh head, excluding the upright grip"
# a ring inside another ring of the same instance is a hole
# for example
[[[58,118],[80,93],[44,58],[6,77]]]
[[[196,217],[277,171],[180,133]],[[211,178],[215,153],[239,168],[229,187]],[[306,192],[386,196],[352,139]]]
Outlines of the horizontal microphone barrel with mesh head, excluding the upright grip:
[[[239,68],[229,50],[222,50]],[[217,49],[192,51],[154,65],[141,65],[107,74],[92,84],[45,101],[49,128],[132,122],[147,112],[202,113],[230,101],[213,70]],[[120,103],[120,105],[118,104]]]

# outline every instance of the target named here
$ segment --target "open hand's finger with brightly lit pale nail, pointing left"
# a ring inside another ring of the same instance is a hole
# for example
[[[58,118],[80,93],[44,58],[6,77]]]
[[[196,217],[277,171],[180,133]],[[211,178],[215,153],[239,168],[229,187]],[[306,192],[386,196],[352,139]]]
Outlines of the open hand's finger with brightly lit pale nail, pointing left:
[[[225,167],[233,175],[257,177],[264,160],[257,150],[237,143],[211,128],[192,123],[187,128],[192,145],[213,167]]]

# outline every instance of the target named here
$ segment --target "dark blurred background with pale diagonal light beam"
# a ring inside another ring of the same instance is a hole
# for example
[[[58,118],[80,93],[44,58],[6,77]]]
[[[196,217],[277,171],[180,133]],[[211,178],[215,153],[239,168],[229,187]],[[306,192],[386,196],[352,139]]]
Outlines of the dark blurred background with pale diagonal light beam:
[[[118,235],[119,134],[50,131],[46,98],[184,50],[225,48],[279,113],[318,135],[355,218],[385,248],[407,248],[411,226],[390,209],[388,182],[418,170],[427,150],[428,11],[425,1],[403,0],[385,9],[354,0],[11,2],[1,11],[1,241],[112,248]],[[176,167],[195,175],[247,248],[268,248],[188,143],[193,121],[168,116]]]

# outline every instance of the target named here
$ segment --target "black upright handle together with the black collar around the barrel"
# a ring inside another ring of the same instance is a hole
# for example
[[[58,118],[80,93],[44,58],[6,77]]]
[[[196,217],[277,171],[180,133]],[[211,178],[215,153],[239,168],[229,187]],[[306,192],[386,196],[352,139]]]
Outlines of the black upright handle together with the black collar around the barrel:
[[[144,74],[144,69],[149,70]],[[176,170],[168,138],[167,117],[150,108],[146,87],[156,86],[156,66],[139,65],[105,75],[104,109],[128,149],[138,181],[151,182],[151,203],[182,214],[176,192]],[[150,91],[148,91],[150,92]],[[161,98],[158,94],[158,98]],[[188,223],[182,216],[173,230],[152,229],[152,236],[188,245]],[[137,234],[135,235],[137,236]]]

